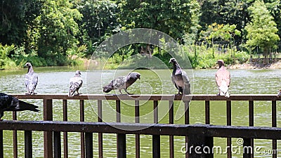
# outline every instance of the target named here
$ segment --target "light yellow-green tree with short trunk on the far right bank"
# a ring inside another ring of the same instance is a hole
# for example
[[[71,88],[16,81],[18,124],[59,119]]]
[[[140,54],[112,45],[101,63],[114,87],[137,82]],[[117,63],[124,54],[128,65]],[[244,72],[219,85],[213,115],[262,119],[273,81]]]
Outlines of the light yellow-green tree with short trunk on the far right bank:
[[[247,31],[246,46],[248,48],[259,46],[265,56],[263,63],[266,64],[270,48],[275,48],[277,41],[280,40],[276,34],[278,29],[263,1],[255,1],[248,9],[251,13],[251,22],[247,23],[245,27]]]

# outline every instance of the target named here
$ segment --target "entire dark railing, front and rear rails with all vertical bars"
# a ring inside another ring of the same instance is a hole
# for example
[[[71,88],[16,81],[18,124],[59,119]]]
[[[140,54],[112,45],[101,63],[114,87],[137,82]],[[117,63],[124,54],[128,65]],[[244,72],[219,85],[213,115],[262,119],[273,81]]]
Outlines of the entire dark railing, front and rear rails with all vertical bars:
[[[44,157],[61,157],[60,132],[63,132],[63,155],[68,157],[67,132],[81,132],[81,157],[93,157],[93,133],[98,133],[98,154],[103,157],[103,133],[117,133],[117,157],[126,157],[126,134],[136,134],[136,157],[140,157],[140,135],[152,135],[152,155],[160,157],[160,135],[169,136],[169,157],[174,157],[174,136],[185,136],[185,143],[188,145],[214,146],[214,137],[227,138],[227,146],[231,145],[231,138],[244,138],[244,146],[254,149],[254,138],[272,139],[272,150],[277,150],[277,140],[281,139],[280,130],[277,126],[276,101],[280,100],[275,95],[231,95],[230,98],[216,95],[81,95],[69,98],[65,94],[37,94],[26,96],[22,94],[11,94],[20,99],[40,99],[44,103],[43,121],[1,121],[0,122],[0,155],[4,155],[3,130],[14,130],[13,145],[14,157],[17,157],[18,140],[17,131],[25,131],[25,157],[32,157],[32,131],[44,131]],[[63,121],[53,121],[53,100],[63,100]],[[80,122],[67,122],[67,100],[80,100]],[[98,100],[98,122],[84,122],[84,100]],[[103,100],[115,100],[116,122],[103,122]],[[120,100],[134,100],[136,124],[119,123],[121,121]],[[139,101],[151,100],[154,108],[155,124],[139,124]],[[159,100],[169,102],[169,124],[157,124]],[[188,125],[190,123],[190,110],[188,103],[185,103],[185,121],[183,125],[174,124],[174,100],[204,100],[205,124]],[[211,126],[210,124],[210,101],[226,100],[226,121],[227,126]],[[233,100],[247,100],[249,102],[249,126],[231,126],[231,103]],[[254,126],[254,101],[271,101],[272,106],[272,127]],[[13,119],[16,113],[13,112]],[[115,127],[133,128],[133,126],[148,126],[137,131],[120,130]],[[98,128],[97,128],[98,127]],[[231,148],[227,149],[228,157],[232,157]],[[1,156],[0,156],[1,157]],[[185,157],[214,157],[214,154],[185,153]],[[254,153],[244,153],[244,157],[254,157]],[[273,153],[273,157],[277,157]]]

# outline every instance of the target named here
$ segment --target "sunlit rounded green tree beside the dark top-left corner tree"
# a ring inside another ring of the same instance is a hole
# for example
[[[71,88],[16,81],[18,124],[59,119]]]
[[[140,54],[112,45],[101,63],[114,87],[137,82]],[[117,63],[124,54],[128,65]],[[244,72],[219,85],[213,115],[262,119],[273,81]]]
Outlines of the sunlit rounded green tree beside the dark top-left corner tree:
[[[38,50],[38,55],[55,58],[77,46],[80,34],[77,20],[81,17],[69,1],[44,1],[40,15],[30,26],[30,43],[37,47],[34,49]]]

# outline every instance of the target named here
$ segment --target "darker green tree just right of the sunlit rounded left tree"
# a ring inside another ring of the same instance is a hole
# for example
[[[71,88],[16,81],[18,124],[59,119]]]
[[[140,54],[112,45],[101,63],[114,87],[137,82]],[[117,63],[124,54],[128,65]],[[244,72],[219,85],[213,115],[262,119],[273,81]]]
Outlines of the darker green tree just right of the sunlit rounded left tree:
[[[80,41],[88,45],[88,53],[91,54],[94,44],[100,44],[107,36],[117,32],[117,4],[110,0],[81,0],[77,8],[83,15],[79,21],[79,28],[83,30]]]

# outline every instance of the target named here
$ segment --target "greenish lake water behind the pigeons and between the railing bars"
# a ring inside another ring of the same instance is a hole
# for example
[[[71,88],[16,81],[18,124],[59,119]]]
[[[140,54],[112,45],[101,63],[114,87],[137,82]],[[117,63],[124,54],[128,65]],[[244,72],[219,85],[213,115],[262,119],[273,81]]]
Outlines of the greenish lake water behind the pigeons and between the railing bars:
[[[36,67],[34,71],[39,76],[37,93],[67,93],[69,79],[74,75],[75,70],[69,67]],[[281,70],[229,70],[231,74],[230,95],[231,94],[277,94],[281,88]],[[27,70],[0,71],[0,91],[3,93],[25,93],[24,77]],[[102,86],[109,83],[111,79],[119,75],[127,74],[129,70],[81,70],[84,84],[81,93],[103,93]],[[136,70],[141,73],[141,80],[136,81],[128,88],[130,93],[135,94],[174,94],[176,88],[171,83],[171,70]],[[214,81],[216,70],[188,70],[192,91],[194,94],[215,94],[218,88]],[[112,91],[112,93],[115,93]],[[116,93],[119,93],[116,91]],[[42,120],[43,103],[42,100],[28,100],[39,106],[41,112],[18,112],[19,120]],[[122,121],[133,122],[133,102],[122,101]],[[85,121],[97,121],[96,100],[85,101]],[[181,102],[175,103],[175,124],[183,124]],[[68,120],[79,121],[79,101],[68,101]],[[103,102],[103,119],[107,122],[115,121],[115,103]],[[159,122],[168,123],[167,116],[168,103],[159,103]],[[61,100],[53,101],[53,120],[63,120],[63,103]],[[153,123],[152,103],[141,102],[141,123]],[[235,101],[232,103],[232,124],[235,126],[248,126],[248,102]],[[281,123],[281,107],[277,102],[277,126]],[[12,119],[11,112],[5,112],[2,119]],[[192,101],[190,104],[190,124],[204,124],[204,101]],[[211,124],[226,125],[226,102],[211,102]],[[254,126],[271,125],[271,102],[254,102]],[[44,157],[43,133],[33,132],[33,157]],[[95,157],[98,157],[98,135],[93,135],[93,148]],[[79,133],[69,133],[69,157],[80,157]],[[18,131],[19,157],[24,157],[23,132]],[[128,135],[127,154],[128,157],[134,155],[134,136]],[[116,135],[104,134],[104,157],[116,157]],[[237,139],[233,138],[233,145],[237,145]],[[11,131],[4,131],[4,157],[13,157],[13,139]],[[113,143],[112,143],[113,142]],[[162,157],[169,155],[169,137],[161,137]],[[184,157],[181,148],[185,145],[183,137],[175,137],[175,157]],[[226,146],[226,138],[215,138],[215,145]],[[255,145],[263,150],[271,149],[271,140],[255,140]],[[278,141],[278,144],[279,141]],[[280,148],[280,145],[278,145]],[[281,154],[281,153],[280,153]],[[152,136],[141,136],[141,157],[152,157]],[[226,157],[226,154],[216,154],[215,157]],[[233,154],[233,157],[242,157],[242,153]],[[255,157],[271,157],[270,154],[255,154]]]

